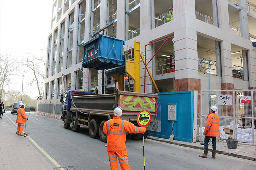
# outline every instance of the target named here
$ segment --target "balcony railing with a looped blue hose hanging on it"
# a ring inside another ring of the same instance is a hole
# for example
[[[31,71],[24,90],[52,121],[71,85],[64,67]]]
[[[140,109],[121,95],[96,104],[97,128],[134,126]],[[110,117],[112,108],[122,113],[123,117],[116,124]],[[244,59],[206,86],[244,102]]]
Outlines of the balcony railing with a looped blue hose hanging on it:
[[[203,74],[217,75],[216,61],[208,60],[207,58],[198,58],[198,71]]]

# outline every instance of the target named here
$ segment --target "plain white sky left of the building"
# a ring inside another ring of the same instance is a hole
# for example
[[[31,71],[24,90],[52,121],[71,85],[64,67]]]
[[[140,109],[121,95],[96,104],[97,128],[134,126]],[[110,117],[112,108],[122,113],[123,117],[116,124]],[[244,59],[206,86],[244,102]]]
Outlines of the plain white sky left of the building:
[[[53,0],[0,0],[0,53],[15,58],[27,56],[46,56],[47,37],[51,29]],[[42,53],[42,49],[45,53]],[[44,59],[45,60],[45,59]],[[21,70],[21,71],[20,71]],[[24,74],[23,91],[35,98],[37,88],[28,86],[32,74],[25,66],[19,66],[12,76],[13,82],[8,89],[22,89],[22,74]]]

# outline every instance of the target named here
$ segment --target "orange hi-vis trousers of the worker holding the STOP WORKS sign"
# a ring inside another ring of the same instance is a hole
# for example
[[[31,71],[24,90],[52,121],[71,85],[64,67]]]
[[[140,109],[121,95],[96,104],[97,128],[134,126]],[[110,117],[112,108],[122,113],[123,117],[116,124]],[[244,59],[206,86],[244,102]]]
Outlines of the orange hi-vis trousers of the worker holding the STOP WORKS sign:
[[[108,151],[109,154],[109,164],[111,170],[118,170],[117,159],[119,160],[119,164],[122,170],[130,170],[128,164],[128,155],[127,151],[123,152],[113,152]]]

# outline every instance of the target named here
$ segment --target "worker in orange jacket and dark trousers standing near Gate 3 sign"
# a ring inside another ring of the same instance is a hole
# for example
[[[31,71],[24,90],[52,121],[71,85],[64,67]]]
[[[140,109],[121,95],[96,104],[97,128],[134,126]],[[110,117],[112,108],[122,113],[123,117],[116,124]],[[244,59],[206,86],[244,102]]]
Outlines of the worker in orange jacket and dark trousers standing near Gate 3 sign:
[[[208,155],[208,142],[212,138],[212,158],[216,158],[216,137],[219,133],[219,116],[216,114],[216,106],[211,107],[210,113],[207,115],[207,121],[204,128],[204,152],[199,157],[207,158]]]

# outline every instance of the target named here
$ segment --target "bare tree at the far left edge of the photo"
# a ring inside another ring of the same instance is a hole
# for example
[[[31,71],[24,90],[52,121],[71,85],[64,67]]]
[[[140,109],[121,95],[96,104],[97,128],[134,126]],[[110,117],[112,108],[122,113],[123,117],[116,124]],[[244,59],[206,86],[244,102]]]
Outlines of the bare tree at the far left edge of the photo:
[[[11,56],[0,54],[0,96],[3,95],[5,87],[11,84],[10,77],[15,75],[15,63]]]

